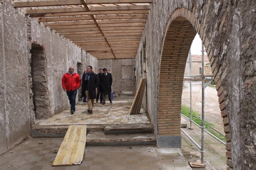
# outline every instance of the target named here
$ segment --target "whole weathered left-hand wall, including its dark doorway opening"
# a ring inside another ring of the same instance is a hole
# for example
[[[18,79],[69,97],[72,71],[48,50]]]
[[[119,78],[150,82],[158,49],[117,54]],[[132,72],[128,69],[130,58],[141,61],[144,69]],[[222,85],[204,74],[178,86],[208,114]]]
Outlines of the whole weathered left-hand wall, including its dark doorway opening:
[[[69,66],[77,71],[81,64],[83,71],[86,65],[98,65],[96,58],[36,19],[27,18],[12,3],[0,3],[0,154],[27,138],[36,118],[49,118],[70,107],[61,85]],[[43,88],[33,93],[37,83]],[[36,108],[41,109],[38,117]]]

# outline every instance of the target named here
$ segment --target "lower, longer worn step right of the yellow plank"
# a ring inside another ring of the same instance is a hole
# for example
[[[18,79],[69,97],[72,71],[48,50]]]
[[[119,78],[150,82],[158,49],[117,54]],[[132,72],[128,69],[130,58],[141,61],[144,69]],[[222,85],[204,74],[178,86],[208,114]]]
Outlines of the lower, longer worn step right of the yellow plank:
[[[90,146],[129,146],[156,145],[154,133],[105,134],[104,131],[89,132],[86,145]]]

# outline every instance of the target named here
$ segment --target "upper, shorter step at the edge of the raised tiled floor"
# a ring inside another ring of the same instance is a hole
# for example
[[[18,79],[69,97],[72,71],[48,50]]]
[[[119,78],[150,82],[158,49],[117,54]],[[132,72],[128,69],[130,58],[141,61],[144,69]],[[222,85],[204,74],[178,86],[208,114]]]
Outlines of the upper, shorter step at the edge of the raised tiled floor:
[[[154,128],[151,124],[113,124],[105,126],[105,134],[132,134],[152,133]]]

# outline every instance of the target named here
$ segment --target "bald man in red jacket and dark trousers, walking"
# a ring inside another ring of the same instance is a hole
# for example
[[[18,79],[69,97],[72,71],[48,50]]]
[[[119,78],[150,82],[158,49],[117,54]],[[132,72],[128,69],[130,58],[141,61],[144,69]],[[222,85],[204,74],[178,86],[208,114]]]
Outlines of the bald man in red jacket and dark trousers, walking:
[[[70,66],[68,72],[62,77],[62,87],[67,92],[69,103],[71,105],[70,112],[75,112],[76,106],[76,93],[81,85],[81,78],[77,72],[74,71],[74,67]]]

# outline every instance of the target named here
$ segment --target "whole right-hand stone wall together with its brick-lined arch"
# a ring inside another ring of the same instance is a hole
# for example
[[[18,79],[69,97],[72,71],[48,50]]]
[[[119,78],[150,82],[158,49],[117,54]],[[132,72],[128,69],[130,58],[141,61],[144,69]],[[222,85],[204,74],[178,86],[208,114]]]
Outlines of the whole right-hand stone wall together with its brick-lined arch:
[[[177,92],[182,86],[180,81],[189,51],[184,43],[190,47],[193,41],[189,36],[190,39],[186,39],[185,35],[197,32],[206,47],[218,91],[227,139],[228,169],[250,169],[256,163],[255,7],[252,1],[154,0],[137,52],[136,69],[143,67],[140,51],[146,44],[147,100],[144,102],[148,106],[158,146],[177,146],[177,142],[167,139],[180,140],[179,128],[170,125],[174,126],[175,119],[179,119],[178,115],[173,117],[171,114],[180,112],[181,92],[174,100],[167,97],[165,102],[170,102],[167,106],[160,106],[160,101],[164,99],[163,93]],[[182,28],[183,32],[175,28]],[[175,59],[174,55],[178,58]],[[174,67],[162,69],[170,67],[166,63],[174,64]],[[175,63],[180,66],[175,66]],[[160,76],[170,81],[165,80],[161,85]],[[172,78],[178,79],[171,81]],[[166,82],[171,84],[164,84]],[[170,110],[173,107],[177,107],[173,110],[175,113]],[[164,108],[167,110],[160,111]],[[160,130],[160,126],[165,130]]]

